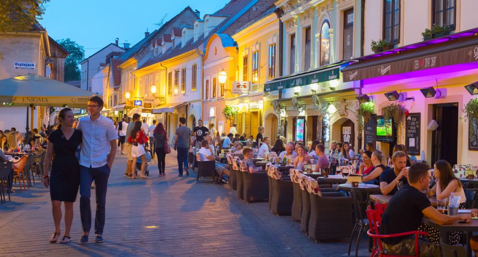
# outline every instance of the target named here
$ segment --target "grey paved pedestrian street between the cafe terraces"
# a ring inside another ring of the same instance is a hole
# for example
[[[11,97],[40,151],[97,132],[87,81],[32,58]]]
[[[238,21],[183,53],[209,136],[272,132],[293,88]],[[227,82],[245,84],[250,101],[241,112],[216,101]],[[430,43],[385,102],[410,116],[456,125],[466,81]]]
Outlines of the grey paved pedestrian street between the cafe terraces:
[[[93,243],[92,228],[90,243],[79,244],[78,193],[72,242],[49,244],[50,196],[37,181],[0,206],[0,256],[347,256],[348,238],[316,244],[290,216],[273,215],[267,203],[239,201],[228,184],[197,183],[194,172],[178,177],[174,151],[166,157],[165,177],[157,176],[153,160],[150,178],[126,178],[125,163],[117,155],[110,175],[104,243]],[[367,256],[366,235],[362,238],[359,255]]]

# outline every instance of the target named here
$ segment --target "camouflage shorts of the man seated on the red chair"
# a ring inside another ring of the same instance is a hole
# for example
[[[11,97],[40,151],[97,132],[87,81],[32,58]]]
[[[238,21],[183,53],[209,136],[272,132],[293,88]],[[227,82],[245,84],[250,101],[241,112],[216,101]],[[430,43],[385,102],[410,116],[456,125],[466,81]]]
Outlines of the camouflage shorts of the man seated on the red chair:
[[[415,239],[404,239],[396,245],[388,245],[382,243],[383,248],[387,254],[392,255],[415,255]],[[427,242],[425,240],[418,240],[418,247],[420,257],[441,257],[441,248],[438,245]]]

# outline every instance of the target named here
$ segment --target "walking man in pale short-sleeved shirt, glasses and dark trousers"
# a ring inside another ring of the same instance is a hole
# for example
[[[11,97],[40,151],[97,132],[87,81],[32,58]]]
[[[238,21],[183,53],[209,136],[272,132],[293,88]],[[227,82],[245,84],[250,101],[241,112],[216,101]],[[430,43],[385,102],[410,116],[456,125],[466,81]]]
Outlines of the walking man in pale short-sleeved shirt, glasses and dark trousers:
[[[80,215],[83,235],[80,243],[87,243],[91,229],[91,183],[95,181],[96,215],[95,242],[103,242],[105,205],[108,177],[116,155],[118,133],[113,121],[101,115],[103,99],[92,96],[88,101],[88,112],[78,122],[77,129],[83,134],[80,154]]]

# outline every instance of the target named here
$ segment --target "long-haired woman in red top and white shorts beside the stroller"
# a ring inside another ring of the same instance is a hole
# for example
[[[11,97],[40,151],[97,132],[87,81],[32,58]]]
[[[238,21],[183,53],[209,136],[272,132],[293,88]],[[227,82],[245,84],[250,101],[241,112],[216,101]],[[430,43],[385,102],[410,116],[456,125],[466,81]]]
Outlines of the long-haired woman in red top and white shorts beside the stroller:
[[[144,169],[146,168],[146,152],[144,151],[143,144],[148,142],[148,139],[149,138],[141,131],[141,121],[136,121],[133,130],[131,130],[128,142],[133,145],[131,147],[131,157],[133,159],[133,162],[131,163],[131,171],[136,170],[136,160],[138,157],[141,157],[141,173],[139,174],[139,178],[147,178],[147,176],[144,175]],[[132,178],[136,178],[134,172],[131,173]]]

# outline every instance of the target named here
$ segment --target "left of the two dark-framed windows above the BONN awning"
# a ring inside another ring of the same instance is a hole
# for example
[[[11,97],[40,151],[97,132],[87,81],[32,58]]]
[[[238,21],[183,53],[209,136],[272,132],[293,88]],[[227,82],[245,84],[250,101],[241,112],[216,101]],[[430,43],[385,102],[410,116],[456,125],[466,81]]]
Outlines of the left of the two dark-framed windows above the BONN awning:
[[[384,0],[383,37],[391,44],[400,42],[400,1]]]

